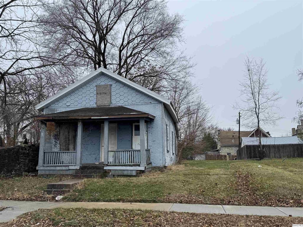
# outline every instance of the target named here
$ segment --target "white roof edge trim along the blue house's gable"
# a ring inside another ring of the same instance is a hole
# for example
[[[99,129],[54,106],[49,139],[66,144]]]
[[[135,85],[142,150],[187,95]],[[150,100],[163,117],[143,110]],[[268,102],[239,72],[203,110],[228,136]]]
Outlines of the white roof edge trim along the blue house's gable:
[[[84,84],[85,82],[89,81],[92,77],[95,77],[97,76],[98,74],[100,73],[104,73],[106,74],[107,76],[109,77],[112,77],[114,78],[115,80],[117,81],[120,81],[121,83],[123,84],[126,84],[128,85],[129,87],[132,87],[140,92],[142,92],[143,94],[147,94],[151,97],[153,97],[154,99],[162,102],[165,107],[168,109],[168,112],[171,114],[172,118],[174,119],[174,121],[176,123],[179,122],[179,119],[178,119],[178,116],[177,116],[177,113],[174,109],[174,107],[172,106],[171,104],[171,101],[168,100],[167,98],[151,91],[151,90],[148,90],[147,88],[145,87],[142,87],[141,85],[139,84],[136,84],[122,76],[119,76],[118,74],[115,74],[105,68],[98,68],[97,70],[91,72],[90,74],[88,74],[87,76],[83,77],[81,80],[69,85],[68,87],[66,87],[65,89],[59,91],[57,94],[53,95],[52,97],[49,97],[48,99],[46,99],[45,101],[39,103],[38,105],[36,105],[36,110],[42,110],[43,108],[47,107],[48,104],[52,103],[53,101],[61,98],[61,97],[64,97],[65,95],[67,95],[69,92],[71,92],[72,90],[75,90],[79,87],[81,87],[82,84]]]

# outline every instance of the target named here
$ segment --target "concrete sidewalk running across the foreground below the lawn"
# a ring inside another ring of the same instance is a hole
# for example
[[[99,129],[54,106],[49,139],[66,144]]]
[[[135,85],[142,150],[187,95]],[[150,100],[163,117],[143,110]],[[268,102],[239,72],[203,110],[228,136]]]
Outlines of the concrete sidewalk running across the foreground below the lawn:
[[[148,209],[158,211],[177,211],[213,214],[238,215],[273,215],[303,217],[302,207],[270,207],[270,206],[229,206],[229,205],[203,205],[181,203],[128,203],[128,202],[31,202],[0,200],[0,207],[7,207],[0,211],[0,222],[8,222],[15,217],[37,209],[53,208],[122,208],[122,209]]]

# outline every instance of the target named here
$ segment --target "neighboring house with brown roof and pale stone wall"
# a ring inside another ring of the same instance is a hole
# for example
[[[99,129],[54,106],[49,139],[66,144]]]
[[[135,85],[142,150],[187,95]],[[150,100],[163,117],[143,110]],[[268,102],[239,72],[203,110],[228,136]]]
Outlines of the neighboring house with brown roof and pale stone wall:
[[[265,132],[260,128],[255,128],[252,131],[240,131],[240,143],[241,137],[270,137],[269,132]],[[221,131],[218,130],[218,149],[220,154],[237,154],[239,148],[239,131]]]

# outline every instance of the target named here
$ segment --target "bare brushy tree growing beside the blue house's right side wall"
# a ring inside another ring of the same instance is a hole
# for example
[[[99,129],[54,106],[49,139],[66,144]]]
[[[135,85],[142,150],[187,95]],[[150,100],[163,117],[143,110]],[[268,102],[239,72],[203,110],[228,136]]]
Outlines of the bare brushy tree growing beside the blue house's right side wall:
[[[180,123],[175,125],[178,139],[178,160],[201,153],[206,133],[215,132],[211,108],[199,95],[200,87],[189,80],[172,81],[163,95],[171,100]]]

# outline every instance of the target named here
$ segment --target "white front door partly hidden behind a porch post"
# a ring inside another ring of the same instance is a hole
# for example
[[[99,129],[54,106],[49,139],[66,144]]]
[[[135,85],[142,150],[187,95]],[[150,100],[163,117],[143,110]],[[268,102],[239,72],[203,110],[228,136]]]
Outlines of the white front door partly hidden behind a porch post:
[[[117,124],[109,124],[108,150],[117,150]],[[112,161],[113,152],[108,153],[108,160]],[[101,152],[100,160],[104,162],[104,124],[101,125]]]

